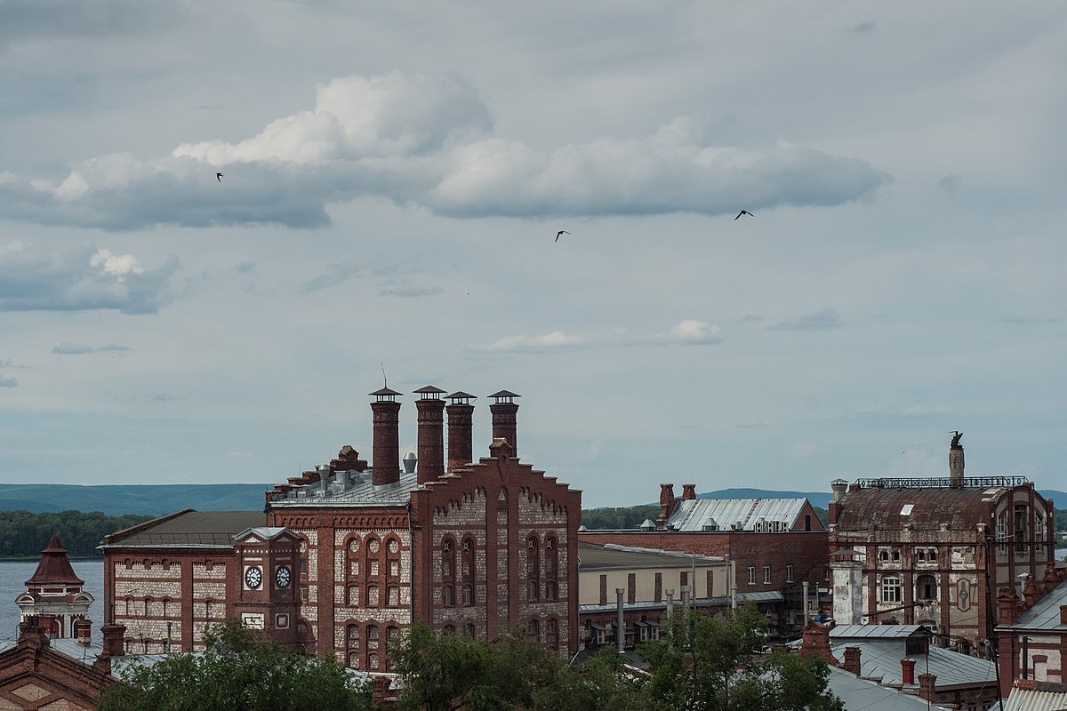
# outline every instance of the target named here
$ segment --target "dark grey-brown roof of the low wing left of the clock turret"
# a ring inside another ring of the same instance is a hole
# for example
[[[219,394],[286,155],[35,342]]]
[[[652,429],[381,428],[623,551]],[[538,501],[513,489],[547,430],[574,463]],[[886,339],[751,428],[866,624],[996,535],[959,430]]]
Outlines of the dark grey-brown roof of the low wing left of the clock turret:
[[[229,547],[235,535],[262,527],[266,519],[261,511],[187,511],[128,535],[109,536],[101,548]]]

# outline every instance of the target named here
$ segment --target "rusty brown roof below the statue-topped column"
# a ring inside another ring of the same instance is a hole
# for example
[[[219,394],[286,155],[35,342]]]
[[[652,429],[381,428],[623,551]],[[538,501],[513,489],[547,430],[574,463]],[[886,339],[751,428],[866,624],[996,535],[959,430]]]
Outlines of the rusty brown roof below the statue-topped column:
[[[980,522],[988,523],[982,519],[985,504],[1006,490],[1003,487],[863,487],[842,497],[838,530],[862,531],[871,526],[904,529],[909,524],[919,529],[937,529],[939,524],[947,523],[952,529],[973,531]]]

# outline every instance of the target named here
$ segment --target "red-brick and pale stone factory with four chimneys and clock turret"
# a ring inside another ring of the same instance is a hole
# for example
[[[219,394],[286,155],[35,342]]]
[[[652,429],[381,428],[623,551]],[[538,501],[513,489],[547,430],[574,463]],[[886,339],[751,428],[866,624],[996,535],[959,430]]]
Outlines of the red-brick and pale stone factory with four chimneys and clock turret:
[[[515,393],[491,395],[478,460],[474,395],[446,406],[444,390],[416,393],[417,459],[400,460],[400,393],[383,388],[372,467],[346,447],[267,491],[264,513],[179,512],[108,536],[105,602],[127,645],[195,649],[207,624],[239,617],[375,672],[388,668],[388,639],[419,619],[478,637],[522,625],[574,653],[580,491],[515,455]]]

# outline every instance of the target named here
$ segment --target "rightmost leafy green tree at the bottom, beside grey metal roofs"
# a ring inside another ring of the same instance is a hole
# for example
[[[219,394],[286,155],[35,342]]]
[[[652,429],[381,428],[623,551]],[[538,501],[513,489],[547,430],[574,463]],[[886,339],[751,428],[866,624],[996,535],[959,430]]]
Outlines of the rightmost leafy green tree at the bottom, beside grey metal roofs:
[[[652,670],[646,691],[657,707],[671,710],[843,709],[826,689],[824,661],[757,653],[766,627],[751,604],[715,617],[676,611],[665,625],[665,636],[639,650]]]

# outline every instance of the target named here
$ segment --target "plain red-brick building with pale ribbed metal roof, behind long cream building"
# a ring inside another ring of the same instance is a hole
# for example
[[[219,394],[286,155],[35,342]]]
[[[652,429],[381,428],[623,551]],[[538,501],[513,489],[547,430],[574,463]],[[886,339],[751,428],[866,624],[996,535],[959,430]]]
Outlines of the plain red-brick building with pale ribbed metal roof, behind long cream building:
[[[736,602],[753,601],[773,636],[790,636],[818,611],[828,591],[827,531],[807,499],[699,499],[696,484],[660,484],[655,522],[626,531],[587,531],[584,543],[652,548],[722,558],[722,589]],[[686,583],[688,584],[688,583]],[[680,585],[681,586],[681,585]],[[713,583],[718,591],[719,582]],[[809,592],[805,604],[803,594]],[[700,587],[698,587],[698,605]],[[726,604],[726,598],[720,598]],[[806,615],[805,609],[809,610]]]

